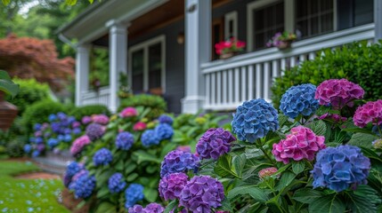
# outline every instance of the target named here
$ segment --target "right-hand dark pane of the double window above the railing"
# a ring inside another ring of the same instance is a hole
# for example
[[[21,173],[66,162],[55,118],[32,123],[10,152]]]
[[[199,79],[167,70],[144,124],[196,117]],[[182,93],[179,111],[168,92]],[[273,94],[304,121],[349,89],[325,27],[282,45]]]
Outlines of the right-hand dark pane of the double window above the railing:
[[[298,38],[329,33],[334,30],[333,0],[295,0]]]

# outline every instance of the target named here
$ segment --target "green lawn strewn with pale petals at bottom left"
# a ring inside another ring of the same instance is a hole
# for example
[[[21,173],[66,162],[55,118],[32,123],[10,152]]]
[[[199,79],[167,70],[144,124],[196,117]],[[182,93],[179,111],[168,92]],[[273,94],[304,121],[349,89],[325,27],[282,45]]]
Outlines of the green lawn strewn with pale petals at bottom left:
[[[69,212],[57,201],[61,180],[12,177],[36,170],[32,162],[0,161],[0,212]]]

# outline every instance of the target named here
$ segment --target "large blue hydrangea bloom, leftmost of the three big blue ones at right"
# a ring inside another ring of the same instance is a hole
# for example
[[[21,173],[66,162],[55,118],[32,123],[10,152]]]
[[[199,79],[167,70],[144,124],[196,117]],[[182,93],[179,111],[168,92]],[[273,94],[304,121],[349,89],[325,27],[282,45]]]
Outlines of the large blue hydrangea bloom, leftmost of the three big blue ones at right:
[[[279,129],[277,110],[264,99],[245,101],[233,114],[232,132],[240,140],[253,143],[269,131]]]

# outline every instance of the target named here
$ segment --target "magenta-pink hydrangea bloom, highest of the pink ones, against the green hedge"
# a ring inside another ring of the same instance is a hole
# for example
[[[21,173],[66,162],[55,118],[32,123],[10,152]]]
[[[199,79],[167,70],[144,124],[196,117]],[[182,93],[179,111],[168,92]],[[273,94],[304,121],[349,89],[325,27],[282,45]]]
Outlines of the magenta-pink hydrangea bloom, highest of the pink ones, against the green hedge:
[[[362,87],[346,79],[330,79],[322,82],[318,87],[314,99],[319,100],[320,105],[331,105],[334,109],[344,106],[354,106],[354,99],[362,99]]]

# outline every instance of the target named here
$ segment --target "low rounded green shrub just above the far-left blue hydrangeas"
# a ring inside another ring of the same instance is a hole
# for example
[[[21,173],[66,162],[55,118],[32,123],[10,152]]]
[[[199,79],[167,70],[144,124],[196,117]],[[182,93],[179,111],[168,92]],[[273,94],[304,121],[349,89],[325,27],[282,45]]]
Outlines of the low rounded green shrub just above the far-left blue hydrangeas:
[[[27,133],[33,131],[35,123],[48,122],[49,114],[56,114],[59,112],[68,112],[72,106],[62,105],[60,102],[53,100],[39,101],[32,106],[29,106],[25,113],[22,115],[22,125]]]

